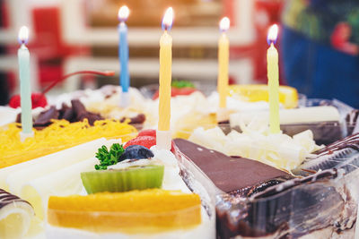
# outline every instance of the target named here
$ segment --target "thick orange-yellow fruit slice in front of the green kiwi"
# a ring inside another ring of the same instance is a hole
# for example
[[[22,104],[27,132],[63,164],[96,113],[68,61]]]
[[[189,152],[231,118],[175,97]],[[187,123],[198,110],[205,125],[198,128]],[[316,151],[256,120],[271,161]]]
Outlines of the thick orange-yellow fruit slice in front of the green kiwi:
[[[201,223],[201,201],[197,194],[162,189],[52,196],[48,223],[92,232],[151,233],[188,228]]]

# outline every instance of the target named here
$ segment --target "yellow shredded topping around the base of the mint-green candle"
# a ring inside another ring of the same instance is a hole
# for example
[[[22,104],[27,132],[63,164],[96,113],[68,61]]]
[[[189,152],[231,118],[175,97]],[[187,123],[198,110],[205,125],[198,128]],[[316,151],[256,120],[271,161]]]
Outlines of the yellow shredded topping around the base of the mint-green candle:
[[[50,153],[99,138],[129,141],[136,136],[136,128],[115,120],[96,121],[91,126],[83,122],[69,123],[54,120],[43,130],[33,129],[34,137],[20,141],[21,124],[8,124],[0,128],[0,168],[39,158]]]

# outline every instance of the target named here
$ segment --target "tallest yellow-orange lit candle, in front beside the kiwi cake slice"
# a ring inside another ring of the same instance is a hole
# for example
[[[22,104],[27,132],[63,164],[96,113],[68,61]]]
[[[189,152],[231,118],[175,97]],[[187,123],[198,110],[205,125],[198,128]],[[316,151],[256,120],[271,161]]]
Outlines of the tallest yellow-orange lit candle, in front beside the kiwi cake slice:
[[[157,145],[162,149],[171,149],[171,78],[172,78],[172,38],[171,30],[173,9],[167,9],[162,20],[160,39],[160,90],[159,90],[159,121],[157,131]]]

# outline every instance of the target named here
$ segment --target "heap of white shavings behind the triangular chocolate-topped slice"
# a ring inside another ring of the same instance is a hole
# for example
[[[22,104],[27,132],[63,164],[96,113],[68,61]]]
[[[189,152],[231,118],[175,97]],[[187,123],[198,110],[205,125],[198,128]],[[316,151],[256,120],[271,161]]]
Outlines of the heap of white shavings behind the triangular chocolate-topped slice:
[[[288,171],[310,157],[311,152],[320,149],[313,141],[311,131],[301,132],[292,138],[283,133],[270,134],[267,127],[242,130],[242,133],[232,131],[225,135],[218,127],[209,130],[200,127],[188,140],[229,156],[256,159]]]

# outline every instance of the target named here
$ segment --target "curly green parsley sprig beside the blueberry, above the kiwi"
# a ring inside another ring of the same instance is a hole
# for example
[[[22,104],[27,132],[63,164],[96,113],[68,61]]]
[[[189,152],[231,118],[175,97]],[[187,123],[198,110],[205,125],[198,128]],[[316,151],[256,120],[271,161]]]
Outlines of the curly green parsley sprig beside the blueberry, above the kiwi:
[[[122,144],[114,143],[110,149],[105,145],[96,153],[96,158],[100,160],[100,165],[95,165],[96,170],[105,170],[108,166],[116,165],[118,158],[124,153],[125,149]]]

